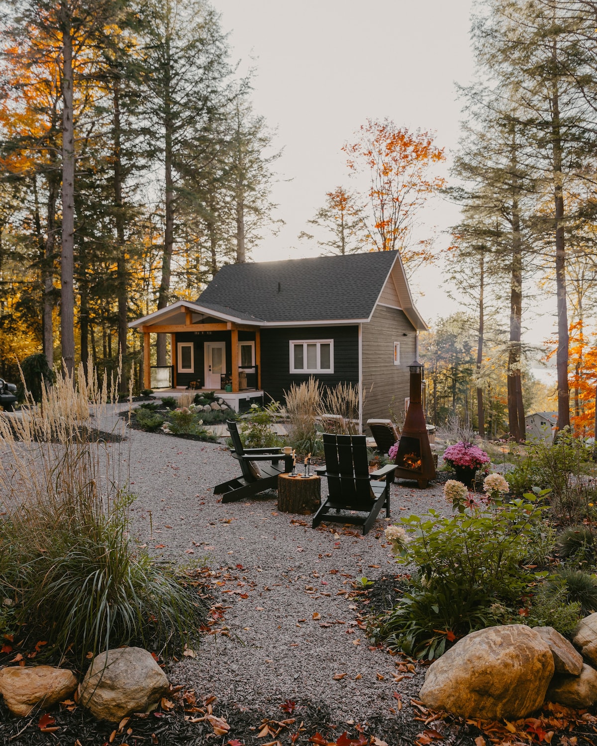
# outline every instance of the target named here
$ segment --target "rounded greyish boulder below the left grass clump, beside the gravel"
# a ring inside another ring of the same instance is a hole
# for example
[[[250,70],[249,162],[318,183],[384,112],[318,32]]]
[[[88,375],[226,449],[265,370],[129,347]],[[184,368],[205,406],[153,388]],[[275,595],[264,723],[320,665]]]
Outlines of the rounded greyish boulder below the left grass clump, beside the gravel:
[[[168,679],[143,648],[116,648],[97,655],[79,685],[79,701],[99,720],[121,721],[150,712],[168,691]]]

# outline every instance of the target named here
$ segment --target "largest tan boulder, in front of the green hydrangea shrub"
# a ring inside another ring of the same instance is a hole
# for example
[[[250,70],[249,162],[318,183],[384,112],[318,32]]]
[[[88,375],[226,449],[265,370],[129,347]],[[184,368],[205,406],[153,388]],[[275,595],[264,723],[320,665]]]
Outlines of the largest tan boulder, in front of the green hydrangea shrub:
[[[554,656],[525,624],[472,632],[431,664],[419,698],[463,718],[525,718],[545,700]]]

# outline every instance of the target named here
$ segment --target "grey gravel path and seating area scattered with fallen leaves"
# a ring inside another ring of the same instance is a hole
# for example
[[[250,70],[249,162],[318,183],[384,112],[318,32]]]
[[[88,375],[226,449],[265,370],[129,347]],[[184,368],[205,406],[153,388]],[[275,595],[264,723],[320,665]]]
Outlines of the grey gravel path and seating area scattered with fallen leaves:
[[[389,715],[394,692],[407,708],[422,671],[395,683],[398,659],[369,648],[348,598],[352,580],[398,571],[384,542],[386,518],[363,537],[341,524],[312,530],[309,516],[278,513],[275,492],[222,505],[213,485],[238,475],[223,445],[128,432],[129,442],[113,448],[130,459],[131,490],[139,496],[134,533],[169,560],[207,557],[225,606],[222,627],[230,637],[204,636],[196,659],[176,666],[180,683],[241,705],[324,702],[345,721]],[[394,485],[391,492],[395,518],[446,507],[439,486]]]

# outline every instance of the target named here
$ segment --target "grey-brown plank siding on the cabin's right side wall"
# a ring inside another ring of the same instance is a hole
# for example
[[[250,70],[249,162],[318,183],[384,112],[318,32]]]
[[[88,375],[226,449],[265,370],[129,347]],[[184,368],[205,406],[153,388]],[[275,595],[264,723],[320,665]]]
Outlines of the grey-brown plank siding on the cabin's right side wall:
[[[378,305],[371,321],[363,324],[362,333],[364,427],[371,418],[390,419],[390,405],[396,413],[404,410],[409,394],[408,366],[416,356],[416,330],[404,311]],[[394,365],[394,342],[400,342],[399,366]]]

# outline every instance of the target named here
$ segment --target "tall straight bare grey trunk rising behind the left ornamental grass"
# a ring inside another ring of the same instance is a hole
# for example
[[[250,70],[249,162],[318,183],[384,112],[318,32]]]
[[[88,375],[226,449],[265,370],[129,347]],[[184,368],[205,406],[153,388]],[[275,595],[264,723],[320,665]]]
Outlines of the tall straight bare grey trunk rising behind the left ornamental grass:
[[[73,122],[72,26],[68,0],[60,2],[62,27],[62,248],[60,342],[64,371],[75,369],[75,128]]]

